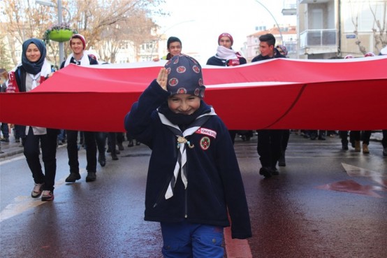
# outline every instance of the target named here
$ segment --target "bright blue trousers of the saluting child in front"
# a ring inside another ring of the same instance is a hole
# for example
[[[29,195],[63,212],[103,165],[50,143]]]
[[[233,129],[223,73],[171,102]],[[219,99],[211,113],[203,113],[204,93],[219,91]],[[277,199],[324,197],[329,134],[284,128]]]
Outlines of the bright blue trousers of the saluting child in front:
[[[223,258],[223,227],[189,222],[161,222],[166,258]]]

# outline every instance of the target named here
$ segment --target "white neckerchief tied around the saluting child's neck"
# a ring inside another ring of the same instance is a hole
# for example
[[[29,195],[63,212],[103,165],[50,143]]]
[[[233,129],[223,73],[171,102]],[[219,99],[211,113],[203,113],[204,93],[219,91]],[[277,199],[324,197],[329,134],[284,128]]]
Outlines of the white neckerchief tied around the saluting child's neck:
[[[170,199],[170,197],[173,196],[173,188],[175,187],[175,183],[177,180],[177,176],[179,175],[179,171],[181,170],[181,177],[184,184],[184,189],[187,189],[188,180],[187,180],[187,172],[185,171],[185,164],[187,163],[187,152],[186,152],[186,145],[188,145],[189,148],[194,148],[194,145],[191,145],[189,141],[185,137],[190,136],[191,134],[194,134],[195,131],[197,131],[207,120],[210,115],[217,115],[214,111],[214,108],[211,108],[210,113],[205,113],[203,115],[199,115],[196,117],[196,120],[192,122],[187,129],[185,129],[183,132],[180,130],[180,128],[173,124],[168,120],[168,118],[159,113],[160,120],[163,124],[165,124],[177,137],[177,148],[179,148],[179,157],[177,157],[177,162],[175,165],[175,169],[173,171],[173,178],[170,180],[170,183],[168,185],[168,189],[166,191],[165,198]],[[180,141],[184,140],[184,141]]]

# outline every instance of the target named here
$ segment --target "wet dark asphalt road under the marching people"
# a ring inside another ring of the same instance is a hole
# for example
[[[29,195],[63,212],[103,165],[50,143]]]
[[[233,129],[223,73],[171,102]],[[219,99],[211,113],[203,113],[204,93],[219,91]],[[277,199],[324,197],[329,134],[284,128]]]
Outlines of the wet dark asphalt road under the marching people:
[[[59,148],[55,199],[45,203],[29,196],[33,181],[23,156],[0,161],[0,257],[161,257],[159,224],[143,220],[150,151],[124,146],[118,161],[108,157],[104,168],[98,165],[96,182],[85,182],[80,150],[82,179],[73,184],[64,182],[67,154]],[[337,137],[291,134],[286,167],[265,180],[258,175],[256,137],[238,139],[251,257],[387,257],[381,151],[377,142],[365,155],[342,151]]]

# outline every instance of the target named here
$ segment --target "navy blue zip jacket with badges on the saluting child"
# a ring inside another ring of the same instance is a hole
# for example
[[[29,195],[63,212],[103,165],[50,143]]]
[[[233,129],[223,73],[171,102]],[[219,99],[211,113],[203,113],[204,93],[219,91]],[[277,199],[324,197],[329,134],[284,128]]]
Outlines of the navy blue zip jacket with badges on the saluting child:
[[[210,224],[228,227],[233,238],[251,237],[249,210],[238,161],[226,126],[212,115],[201,128],[212,134],[187,136],[194,148],[187,148],[187,189],[177,178],[173,196],[166,189],[177,161],[177,137],[161,123],[156,108],[168,99],[168,92],[154,80],[125,117],[125,128],[152,149],[145,193],[145,220]],[[206,105],[201,101],[201,105]],[[216,136],[213,136],[213,133]],[[208,148],[206,148],[208,146]]]

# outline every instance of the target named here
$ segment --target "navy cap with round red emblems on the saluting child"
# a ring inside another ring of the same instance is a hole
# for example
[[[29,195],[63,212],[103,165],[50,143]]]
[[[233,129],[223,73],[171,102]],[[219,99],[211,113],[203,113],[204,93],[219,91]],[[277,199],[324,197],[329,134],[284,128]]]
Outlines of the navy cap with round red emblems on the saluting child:
[[[170,95],[192,94],[204,97],[202,68],[188,55],[175,55],[164,66],[168,72],[167,90]]]

